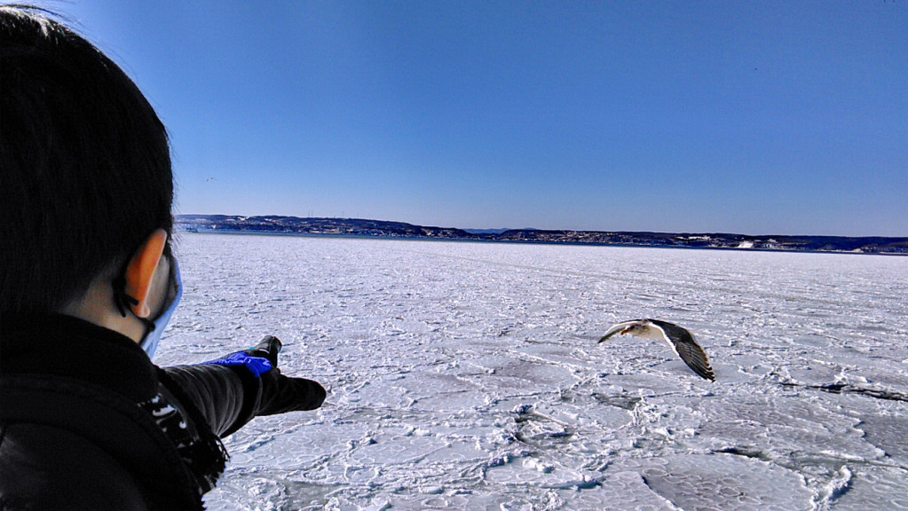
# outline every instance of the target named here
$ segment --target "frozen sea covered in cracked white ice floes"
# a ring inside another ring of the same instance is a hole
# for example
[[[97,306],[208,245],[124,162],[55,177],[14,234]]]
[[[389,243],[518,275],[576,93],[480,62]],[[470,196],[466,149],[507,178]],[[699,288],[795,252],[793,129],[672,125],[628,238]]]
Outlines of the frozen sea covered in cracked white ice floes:
[[[185,233],[155,359],[264,334],[213,510],[908,509],[908,258]],[[696,335],[716,382],[666,343]]]

